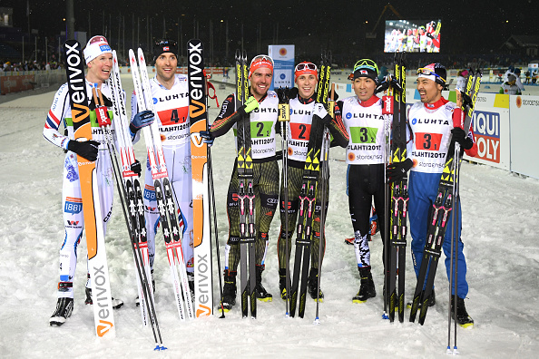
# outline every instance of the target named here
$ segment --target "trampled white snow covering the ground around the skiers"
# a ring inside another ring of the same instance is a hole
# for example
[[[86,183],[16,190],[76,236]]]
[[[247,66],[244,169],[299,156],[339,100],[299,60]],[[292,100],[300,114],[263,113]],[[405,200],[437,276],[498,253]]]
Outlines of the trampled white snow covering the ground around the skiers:
[[[122,76],[130,92],[130,77]],[[219,100],[232,92],[218,91]],[[0,356],[1,357],[445,357],[447,344],[447,279],[436,278],[437,303],[424,326],[390,324],[382,314],[382,261],[379,236],[371,242],[378,296],[352,304],[359,278],[348,216],[344,150],[330,153],[328,246],[322,268],[325,301],[321,325],[312,325],[315,303],[304,319],[284,317],[285,304],[275,298],[259,302],[257,320],[241,319],[235,308],[219,315],[181,323],[173,304],[169,270],[158,238],[155,278],[156,306],[164,344],[154,353],[152,331],[144,329],[134,306],[136,285],[119,201],[107,233],[107,257],[113,296],[125,306],[115,312],[116,339],[100,342],[93,333],[93,311],[84,306],[86,275],[84,241],[80,246],[73,315],[65,325],[51,327],[56,303],[58,250],[64,236],[61,171],[64,152],[42,137],[44,119],[54,92],[10,95],[0,104]],[[11,100],[7,101],[6,100]],[[217,115],[215,102],[211,121]],[[278,145],[279,146],[279,145]],[[212,160],[218,207],[220,253],[227,238],[225,193],[234,160],[231,134],[215,141]],[[143,158],[143,144],[136,146]],[[463,240],[470,292],[466,307],[475,328],[457,329],[461,355],[472,358],[536,357],[539,350],[539,181],[503,170],[464,163],[461,179]],[[278,296],[276,238],[279,216],[270,231],[270,249],[263,282]],[[214,273],[217,276],[214,256]],[[222,258],[221,258],[222,259]],[[222,260],[221,260],[222,263]],[[407,257],[407,298],[415,286]],[[219,286],[215,282],[215,290]],[[217,301],[217,298],[215,299]],[[452,329],[453,331],[453,329]],[[535,353],[535,354],[534,354]]]

